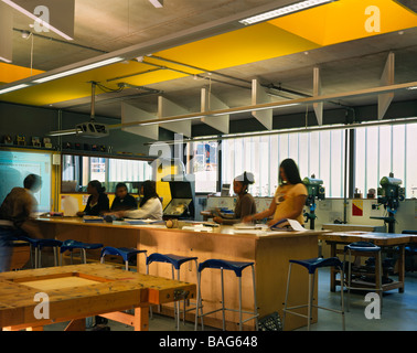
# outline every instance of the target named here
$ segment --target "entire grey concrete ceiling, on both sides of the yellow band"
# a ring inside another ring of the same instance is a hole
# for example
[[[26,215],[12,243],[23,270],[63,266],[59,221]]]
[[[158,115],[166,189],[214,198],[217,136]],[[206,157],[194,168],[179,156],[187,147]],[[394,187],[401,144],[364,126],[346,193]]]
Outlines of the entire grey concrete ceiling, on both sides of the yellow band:
[[[43,38],[35,35],[33,64],[38,69],[50,71],[95,57],[104,52],[114,52],[170,33],[190,30],[254,7],[278,2],[165,0],[163,9],[154,9],[148,0],[76,0],[74,41],[62,41],[54,33],[47,33]],[[30,66],[31,43],[30,40],[23,39],[20,32],[29,30],[29,21],[17,12],[14,17],[13,64]],[[411,28],[216,71],[221,75],[203,73],[202,76],[205,78],[195,79],[194,76],[189,76],[147,87],[163,92],[167,98],[190,111],[200,110],[200,94],[203,87],[210,87],[212,93],[229,107],[238,107],[250,105],[253,78],[258,78],[265,85],[274,84],[285,89],[312,95],[312,71],[314,66],[319,66],[323,94],[351,92],[379,85],[389,52],[396,55],[395,83],[406,83],[417,81],[416,40],[417,28]],[[285,92],[279,93],[277,89],[269,93],[272,94],[271,99],[276,100],[299,97]],[[415,98],[416,92],[404,90],[397,93],[394,100]],[[101,94],[96,99],[96,115],[120,118],[121,101],[157,113],[158,95],[143,95],[142,90],[137,89]],[[373,105],[376,101],[377,97],[356,97],[327,103],[324,107],[334,109],[340,105],[361,106]],[[52,107],[84,114],[90,110],[88,97],[56,103]],[[276,109],[275,114],[287,115],[304,110],[306,106],[296,106]],[[249,114],[242,114],[232,116],[232,119],[249,117]]]

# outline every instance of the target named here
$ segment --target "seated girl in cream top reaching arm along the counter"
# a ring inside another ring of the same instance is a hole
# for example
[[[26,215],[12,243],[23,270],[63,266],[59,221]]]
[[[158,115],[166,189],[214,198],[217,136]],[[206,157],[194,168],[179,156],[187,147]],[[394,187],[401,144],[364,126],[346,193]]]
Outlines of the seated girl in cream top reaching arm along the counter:
[[[110,214],[117,217],[136,218],[136,220],[154,220],[162,221],[162,202],[157,194],[157,183],[147,180],[141,188],[143,197],[140,201],[138,210],[119,211]]]

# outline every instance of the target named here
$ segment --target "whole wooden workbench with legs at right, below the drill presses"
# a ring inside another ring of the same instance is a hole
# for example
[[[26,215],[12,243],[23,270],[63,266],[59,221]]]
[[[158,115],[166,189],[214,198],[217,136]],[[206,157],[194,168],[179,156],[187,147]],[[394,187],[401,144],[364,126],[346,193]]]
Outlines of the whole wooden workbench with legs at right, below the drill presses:
[[[383,290],[398,289],[399,292],[404,292],[405,289],[405,246],[409,243],[416,242],[417,236],[409,234],[392,234],[392,233],[367,233],[367,232],[340,232],[340,233],[324,233],[319,236],[319,239],[324,240],[330,245],[330,256],[338,256],[338,254],[343,254],[343,247],[346,244],[355,242],[370,242],[382,248],[397,247],[398,250],[398,280],[391,284],[383,285]],[[343,246],[338,248],[338,246]],[[377,267],[375,269],[377,271]],[[378,272],[376,272],[376,278],[378,278]],[[340,286],[340,281],[336,280],[336,272],[334,269],[331,270],[330,276],[330,289],[335,291],[335,287]],[[378,284],[375,284],[376,287]]]

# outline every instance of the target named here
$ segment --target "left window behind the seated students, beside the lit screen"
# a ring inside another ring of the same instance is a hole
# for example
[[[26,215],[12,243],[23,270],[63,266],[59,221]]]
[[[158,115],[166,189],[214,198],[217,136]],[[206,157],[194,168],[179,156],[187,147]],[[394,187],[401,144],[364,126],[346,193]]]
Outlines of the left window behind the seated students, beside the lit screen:
[[[61,191],[85,192],[89,181],[98,180],[108,192],[125,182],[129,192],[138,193],[138,183],[151,180],[152,174],[148,161],[64,154]]]

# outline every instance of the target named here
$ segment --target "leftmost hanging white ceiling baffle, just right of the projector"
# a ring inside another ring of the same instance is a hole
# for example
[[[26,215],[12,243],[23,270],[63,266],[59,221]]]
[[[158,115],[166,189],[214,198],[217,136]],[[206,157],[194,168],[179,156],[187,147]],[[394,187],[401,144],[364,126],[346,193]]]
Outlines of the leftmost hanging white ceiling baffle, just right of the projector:
[[[121,124],[140,122],[143,120],[153,120],[157,118],[158,117],[153,114],[150,114],[140,108],[128,105],[124,101],[121,103]],[[158,125],[132,126],[132,127],[121,128],[121,130],[125,132],[142,136],[152,140],[159,139]]]

